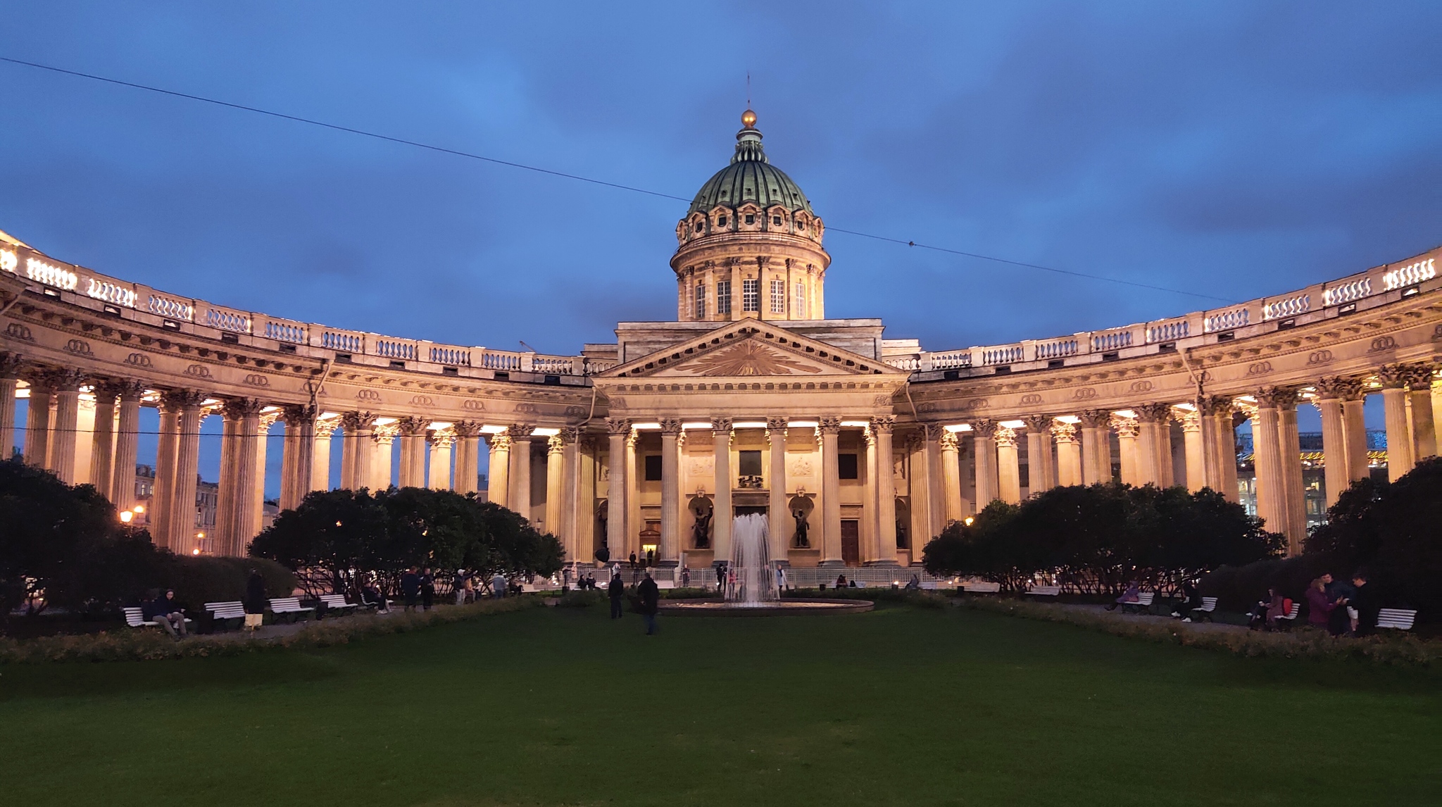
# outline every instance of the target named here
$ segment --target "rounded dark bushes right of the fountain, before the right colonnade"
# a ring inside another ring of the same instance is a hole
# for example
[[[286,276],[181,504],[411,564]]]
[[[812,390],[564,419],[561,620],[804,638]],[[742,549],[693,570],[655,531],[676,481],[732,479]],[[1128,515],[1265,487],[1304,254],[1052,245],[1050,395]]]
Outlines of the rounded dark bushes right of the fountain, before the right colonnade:
[[[1012,591],[1044,574],[1070,591],[1109,594],[1132,579],[1171,589],[1223,563],[1275,555],[1280,545],[1213,490],[1069,486],[1021,504],[992,501],[972,525],[949,525],[926,545],[923,565]]]

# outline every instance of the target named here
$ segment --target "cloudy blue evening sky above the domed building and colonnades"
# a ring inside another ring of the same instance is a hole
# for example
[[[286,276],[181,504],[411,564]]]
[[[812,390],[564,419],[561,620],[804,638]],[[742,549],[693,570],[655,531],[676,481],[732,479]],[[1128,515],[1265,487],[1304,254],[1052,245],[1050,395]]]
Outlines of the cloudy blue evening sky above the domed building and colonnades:
[[[727,163],[750,71],[767,154],[833,228],[1227,300],[1442,241],[1436,3],[4,3],[3,19],[4,56],[685,197]],[[574,353],[617,320],[675,316],[684,202],[9,63],[0,94],[0,229],[66,261],[499,349]],[[826,248],[829,316],[933,350],[1220,304],[835,231]]]

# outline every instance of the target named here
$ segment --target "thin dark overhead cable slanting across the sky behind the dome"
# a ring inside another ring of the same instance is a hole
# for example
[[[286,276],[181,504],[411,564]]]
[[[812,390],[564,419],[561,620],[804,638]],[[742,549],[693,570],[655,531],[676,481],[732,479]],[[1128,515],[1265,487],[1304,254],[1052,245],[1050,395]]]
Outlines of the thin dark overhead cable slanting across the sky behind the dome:
[[[508,167],[512,167],[512,169],[521,169],[521,170],[526,170],[526,171],[535,171],[535,173],[539,173],[539,174],[549,174],[549,176],[555,176],[555,177],[561,177],[561,179],[572,179],[572,180],[577,180],[577,182],[584,182],[584,183],[590,183],[590,184],[598,184],[598,186],[603,186],[603,187],[614,187],[617,190],[629,190],[632,193],[643,193],[646,196],[655,196],[655,197],[659,197],[659,199],[675,199],[676,202],[691,202],[689,197],[686,197],[686,196],[676,196],[673,193],[662,193],[659,190],[650,190],[650,189],[646,189],[646,187],[636,187],[633,184],[622,184],[622,183],[616,183],[616,182],[606,182],[606,180],[594,179],[594,177],[588,177],[588,176],[572,174],[572,173],[567,173],[567,171],[558,171],[558,170],[554,170],[554,169],[544,169],[544,167],[539,167],[539,166],[528,166],[525,163],[516,163],[513,160],[502,160],[499,157],[487,157],[485,154],[476,154],[473,151],[461,151],[459,148],[447,148],[444,146],[434,146],[431,143],[421,143],[418,140],[408,140],[408,138],[404,138],[404,137],[394,137],[394,135],[389,135],[389,134],[381,134],[381,133],[368,131],[368,130],[363,130],[363,128],[355,128],[355,127],[333,124],[333,122],[320,121],[320,120],[316,120],[316,118],[306,118],[306,117],[301,117],[301,115],[288,115],[286,112],[275,112],[273,110],[264,110],[261,107],[251,107],[251,105],[247,105],[247,104],[235,104],[232,101],[222,101],[219,98],[208,98],[205,95],[195,95],[195,94],[190,94],[190,92],[179,92],[179,91],[174,91],[174,89],[164,89],[164,88],[160,88],[160,86],[150,86],[147,84],[137,84],[137,82],[133,82],[133,81],[121,81],[121,79],[117,79],[117,78],[108,78],[108,76],[95,75],[95,73],[87,73],[87,72],[81,72],[81,71],[71,71],[71,69],[65,69],[65,68],[56,68],[56,66],[52,66],[52,65],[42,65],[39,62],[27,62],[25,59],[13,59],[10,56],[0,56],[0,62],[9,62],[12,65],[22,65],[22,66],[26,66],[26,68],[36,68],[36,69],[40,69],[40,71],[49,71],[49,72],[62,73],[62,75],[75,76],[75,78],[85,78],[85,79],[98,81],[98,82],[104,82],[104,84],[111,84],[111,85],[117,85],[117,86],[128,86],[131,89],[143,89],[146,92],[156,92],[156,94],[160,94],[160,95],[170,95],[173,98],[185,98],[187,101],[200,101],[203,104],[213,104],[216,107],[226,107],[226,108],[239,110],[239,111],[244,111],[244,112],[255,112],[258,115],[267,115],[267,117],[271,117],[271,118],[280,118],[280,120],[291,121],[291,122],[297,122],[297,124],[307,124],[307,125],[314,125],[314,127],[320,127],[320,128],[329,128],[329,130],[333,130],[333,131],[343,131],[346,134],[358,134],[360,137],[371,137],[371,138],[375,138],[375,140],[384,140],[386,143],[397,143],[397,144],[401,144],[401,146],[414,146],[415,148],[425,148],[428,151],[438,151],[441,154],[450,154],[450,156],[454,156],[454,157],[464,157],[467,160],[480,160],[483,163],[492,163],[492,164],[496,164],[496,166],[508,166]],[[950,249],[950,248],[946,248],[946,246],[936,246],[936,245],[930,245],[930,244],[919,244],[916,241],[906,241],[906,239],[900,239],[900,238],[890,238],[890,236],[885,236],[885,235],[874,235],[874,233],[870,233],[870,232],[861,232],[861,231],[854,231],[854,229],[842,229],[842,228],[836,228],[836,226],[828,226],[826,229],[831,231],[831,232],[841,232],[841,233],[845,233],[845,235],[855,235],[855,236],[859,236],[859,238],[870,238],[870,239],[874,239],[874,241],[884,241],[884,242],[888,242],[888,244],[898,244],[898,245],[903,245],[903,246],[913,246],[913,248],[917,248],[917,249],[929,249],[932,252],[945,252],[947,255],[959,255],[959,257],[963,257],[963,258],[975,258],[978,261],[992,261],[992,262],[996,262],[996,264],[1007,264],[1007,265],[1012,265],[1012,267],[1024,267],[1024,268],[1028,268],[1028,269],[1040,269],[1040,271],[1044,271],[1044,272],[1054,272],[1054,274],[1058,274],[1058,275],[1069,275],[1069,277],[1077,277],[1077,278],[1086,278],[1086,280],[1097,280],[1097,281],[1103,281],[1103,282],[1115,282],[1115,284],[1120,284],[1120,285],[1131,285],[1131,287],[1135,287],[1135,288],[1146,288],[1146,290],[1151,290],[1151,291],[1165,291],[1165,293],[1169,293],[1169,294],[1184,294],[1184,295],[1188,295],[1188,297],[1200,297],[1203,300],[1218,300],[1218,301],[1223,301],[1223,303],[1230,303],[1231,301],[1231,300],[1229,300],[1226,297],[1217,297],[1217,295],[1213,295],[1213,294],[1201,294],[1198,291],[1187,291],[1187,290],[1182,290],[1182,288],[1169,288],[1169,287],[1165,287],[1165,285],[1154,285],[1154,284],[1148,284],[1148,282],[1138,282],[1138,281],[1122,280],[1122,278],[1115,278],[1115,277],[1096,275],[1096,274],[1089,274],[1089,272],[1079,272],[1079,271],[1073,271],[1073,269],[1058,269],[1056,267],[1045,267],[1045,265],[1041,265],[1041,264],[1028,264],[1025,261],[1012,261],[1009,258],[998,258],[995,255],[983,255],[981,252],[966,252],[966,251],[962,251],[962,249]]]

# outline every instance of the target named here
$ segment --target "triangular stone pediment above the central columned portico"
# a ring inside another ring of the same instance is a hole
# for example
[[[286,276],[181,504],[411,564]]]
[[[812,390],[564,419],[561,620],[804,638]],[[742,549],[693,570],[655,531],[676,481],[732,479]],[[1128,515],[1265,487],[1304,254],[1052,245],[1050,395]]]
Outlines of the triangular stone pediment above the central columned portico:
[[[885,362],[747,318],[603,373],[606,378],[906,376]]]

